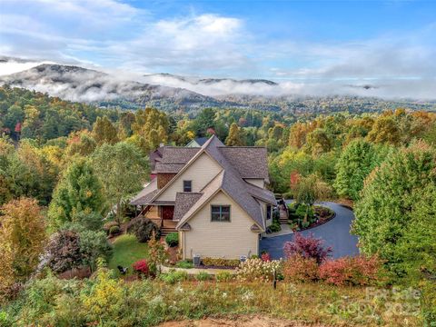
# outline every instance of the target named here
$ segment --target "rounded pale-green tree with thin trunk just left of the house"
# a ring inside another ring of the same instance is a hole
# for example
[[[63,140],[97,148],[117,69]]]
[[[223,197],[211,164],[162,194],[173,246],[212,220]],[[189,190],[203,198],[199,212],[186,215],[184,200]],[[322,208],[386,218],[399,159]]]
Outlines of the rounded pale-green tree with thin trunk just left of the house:
[[[148,163],[134,144],[104,144],[93,154],[94,170],[104,185],[104,195],[122,220],[122,201],[139,191],[149,173]]]

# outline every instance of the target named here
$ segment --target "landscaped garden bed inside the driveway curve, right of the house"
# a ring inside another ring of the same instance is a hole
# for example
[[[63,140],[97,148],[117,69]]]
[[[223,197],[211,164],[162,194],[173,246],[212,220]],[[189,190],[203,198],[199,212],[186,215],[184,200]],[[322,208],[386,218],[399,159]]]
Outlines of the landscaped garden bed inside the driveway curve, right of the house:
[[[322,223],[327,223],[336,215],[332,209],[322,205],[308,207],[303,203],[290,203],[288,209],[290,213],[289,223],[294,232],[304,231],[322,225]]]

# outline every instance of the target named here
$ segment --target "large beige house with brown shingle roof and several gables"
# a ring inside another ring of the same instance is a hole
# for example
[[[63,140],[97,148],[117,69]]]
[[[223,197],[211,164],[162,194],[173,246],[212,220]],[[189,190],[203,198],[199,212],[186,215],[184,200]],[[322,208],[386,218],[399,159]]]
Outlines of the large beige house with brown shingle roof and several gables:
[[[213,135],[201,147],[164,146],[156,177],[132,200],[163,233],[177,231],[183,259],[239,259],[259,253],[272,223],[274,194],[264,147],[225,146]]]

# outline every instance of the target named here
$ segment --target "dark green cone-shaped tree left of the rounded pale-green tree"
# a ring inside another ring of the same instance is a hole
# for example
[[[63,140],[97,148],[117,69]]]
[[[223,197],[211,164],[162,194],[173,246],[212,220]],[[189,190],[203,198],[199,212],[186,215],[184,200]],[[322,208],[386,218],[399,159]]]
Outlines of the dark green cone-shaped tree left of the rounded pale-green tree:
[[[93,166],[78,159],[64,172],[53,193],[49,217],[54,227],[71,222],[74,214],[101,213],[104,207],[103,185]]]

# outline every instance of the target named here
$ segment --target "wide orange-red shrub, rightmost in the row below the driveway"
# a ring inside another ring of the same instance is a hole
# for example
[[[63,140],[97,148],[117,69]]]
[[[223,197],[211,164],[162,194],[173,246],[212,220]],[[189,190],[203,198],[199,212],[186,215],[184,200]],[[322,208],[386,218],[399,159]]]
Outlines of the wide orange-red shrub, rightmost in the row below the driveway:
[[[377,256],[345,257],[321,264],[320,278],[334,285],[369,285],[376,282],[381,269]]]

